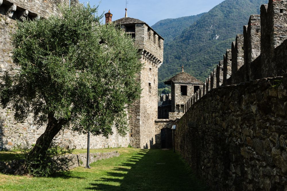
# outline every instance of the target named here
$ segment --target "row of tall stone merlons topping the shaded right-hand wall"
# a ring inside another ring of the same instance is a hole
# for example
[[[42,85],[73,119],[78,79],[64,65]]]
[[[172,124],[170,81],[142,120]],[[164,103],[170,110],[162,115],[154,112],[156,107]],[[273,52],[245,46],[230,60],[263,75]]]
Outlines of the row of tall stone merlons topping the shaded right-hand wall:
[[[260,15],[251,15],[243,34],[206,78],[202,95],[219,86],[282,76],[287,72],[287,0],[269,0]],[[201,97],[199,92],[193,96]]]

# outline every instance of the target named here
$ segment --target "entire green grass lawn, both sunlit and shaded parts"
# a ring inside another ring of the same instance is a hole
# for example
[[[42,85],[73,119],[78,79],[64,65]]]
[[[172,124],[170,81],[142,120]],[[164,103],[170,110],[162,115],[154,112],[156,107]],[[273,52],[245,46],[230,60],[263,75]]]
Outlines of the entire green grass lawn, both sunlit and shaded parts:
[[[207,190],[172,150],[117,148],[91,152],[114,150],[121,155],[94,162],[91,169],[78,167],[48,178],[0,174],[0,190]]]

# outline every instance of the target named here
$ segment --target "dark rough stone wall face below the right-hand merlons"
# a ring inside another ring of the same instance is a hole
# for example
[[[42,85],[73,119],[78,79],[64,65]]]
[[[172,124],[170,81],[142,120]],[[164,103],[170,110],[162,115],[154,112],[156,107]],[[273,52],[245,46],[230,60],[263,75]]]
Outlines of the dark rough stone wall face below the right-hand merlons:
[[[287,188],[287,75],[212,89],[176,125],[177,151],[212,190]]]

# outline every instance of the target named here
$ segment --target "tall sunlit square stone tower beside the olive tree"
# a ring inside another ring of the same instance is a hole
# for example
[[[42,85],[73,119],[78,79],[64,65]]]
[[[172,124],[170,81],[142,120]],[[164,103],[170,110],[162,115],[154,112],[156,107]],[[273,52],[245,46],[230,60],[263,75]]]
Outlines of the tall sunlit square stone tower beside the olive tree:
[[[109,16],[109,15],[107,15]],[[108,20],[108,19],[107,19]],[[155,143],[155,123],[158,115],[158,68],[163,61],[164,39],[145,22],[130,17],[114,21],[135,39],[144,68],[138,74],[141,98],[129,109],[129,141],[132,147],[151,148]]]

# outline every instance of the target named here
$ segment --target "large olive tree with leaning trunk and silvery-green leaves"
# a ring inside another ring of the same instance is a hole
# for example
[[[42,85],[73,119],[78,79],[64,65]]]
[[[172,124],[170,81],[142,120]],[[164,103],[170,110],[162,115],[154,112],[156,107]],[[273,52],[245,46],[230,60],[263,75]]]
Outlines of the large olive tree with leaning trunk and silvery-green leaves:
[[[13,34],[15,75],[1,77],[0,101],[15,120],[33,116],[46,124],[29,155],[45,155],[63,128],[108,137],[127,133],[126,109],[140,97],[133,39],[113,24],[100,24],[97,7],[63,8],[47,19],[18,22]]]

